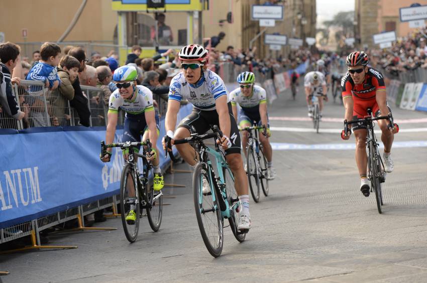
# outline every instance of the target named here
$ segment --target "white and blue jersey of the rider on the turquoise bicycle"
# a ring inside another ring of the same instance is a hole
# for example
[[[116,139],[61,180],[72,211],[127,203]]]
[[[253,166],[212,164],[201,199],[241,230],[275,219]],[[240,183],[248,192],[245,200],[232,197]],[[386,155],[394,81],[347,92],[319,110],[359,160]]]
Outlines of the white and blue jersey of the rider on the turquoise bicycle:
[[[169,99],[181,101],[187,99],[195,108],[200,110],[215,110],[215,100],[223,95],[227,96],[228,90],[224,81],[216,73],[206,70],[196,85],[185,80],[183,72],[173,77],[169,87]]]

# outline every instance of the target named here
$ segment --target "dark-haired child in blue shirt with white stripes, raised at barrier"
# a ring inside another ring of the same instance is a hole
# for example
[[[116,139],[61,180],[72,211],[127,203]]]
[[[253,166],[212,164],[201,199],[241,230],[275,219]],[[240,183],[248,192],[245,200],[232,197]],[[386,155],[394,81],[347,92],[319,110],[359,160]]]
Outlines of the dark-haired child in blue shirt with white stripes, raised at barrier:
[[[59,45],[51,42],[44,43],[40,49],[41,59],[31,68],[27,75],[27,80],[42,81],[51,91],[55,90],[61,82],[56,70],[60,55],[61,48]],[[48,126],[49,114],[45,111],[44,104],[47,103],[47,101],[46,97],[43,95],[42,87],[31,86],[28,93],[30,96],[33,96],[29,97],[28,102],[31,106],[30,116],[33,118],[34,126]],[[48,111],[49,110],[50,109],[48,109]],[[57,124],[56,121],[54,124]]]

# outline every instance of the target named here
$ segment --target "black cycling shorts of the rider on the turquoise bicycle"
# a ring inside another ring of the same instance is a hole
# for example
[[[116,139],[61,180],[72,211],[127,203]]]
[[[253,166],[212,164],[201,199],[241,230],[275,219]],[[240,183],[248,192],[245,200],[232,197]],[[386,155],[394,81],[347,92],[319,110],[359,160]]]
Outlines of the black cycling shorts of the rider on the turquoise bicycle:
[[[229,154],[240,154],[240,133],[239,128],[237,127],[236,119],[233,116],[233,110],[231,108],[231,103],[228,103],[229,113],[230,113],[230,141],[232,143],[231,147],[226,150],[226,155]],[[217,110],[200,110],[193,108],[191,113],[186,116],[184,119],[179,122],[178,128],[186,128],[190,133],[203,134],[214,125],[220,125],[219,115]]]

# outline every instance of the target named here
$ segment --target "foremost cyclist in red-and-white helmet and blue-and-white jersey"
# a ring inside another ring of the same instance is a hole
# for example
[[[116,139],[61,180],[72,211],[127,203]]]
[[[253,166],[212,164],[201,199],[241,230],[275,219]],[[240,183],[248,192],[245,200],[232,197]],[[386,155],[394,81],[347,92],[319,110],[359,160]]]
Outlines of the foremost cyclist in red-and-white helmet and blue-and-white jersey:
[[[165,118],[167,136],[171,144],[175,139],[189,137],[191,133],[203,134],[213,125],[219,125],[223,132],[217,140],[225,152],[228,165],[235,176],[235,189],[241,202],[238,229],[251,228],[249,214],[248,179],[243,169],[240,154],[240,134],[233,116],[228,91],[219,75],[207,69],[208,51],[200,45],[187,45],[179,51],[182,72],[173,77],[169,88],[168,109]],[[187,99],[194,106],[191,114],[181,120],[176,132],[176,116],[181,99]],[[163,139],[163,147],[165,143]],[[176,146],[181,157],[193,168],[194,149],[189,144]],[[205,187],[205,186],[203,186]],[[203,188],[203,192],[207,188]]]

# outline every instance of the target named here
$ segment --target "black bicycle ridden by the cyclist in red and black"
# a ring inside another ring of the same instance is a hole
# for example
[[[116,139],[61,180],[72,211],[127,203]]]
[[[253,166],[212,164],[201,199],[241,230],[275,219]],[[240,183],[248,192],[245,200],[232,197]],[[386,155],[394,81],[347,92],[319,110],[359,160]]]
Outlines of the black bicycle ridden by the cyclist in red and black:
[[[393,116],[391,113],[389,113],[387,116],[373,117],[372,109],[368,108],[367,111],[368,116],[364,118],[352,121],[344,120],[344,130],[341,132],[341,137],[344,139],[344,135],[347,135],[347,132],[349,131],[349,125],[351,124],[362,123],[367,126],[368,132],[366,137],[366,147],[368,151],[368,180],[371,181],[371,193],[375,193],[378,212],[382,213],[381,206],[384,203],[381,183],[385,182],[386,172],[384,170],[384,164],[382,162],[381,155],[378,151],[379,144],[374,133],[375,124],[373,121],[387,119],[389,120],[388,127],[396,128],[396,132],[399,131],[399,126],[393,123]]]

